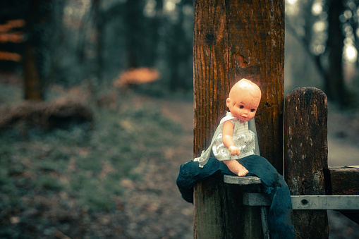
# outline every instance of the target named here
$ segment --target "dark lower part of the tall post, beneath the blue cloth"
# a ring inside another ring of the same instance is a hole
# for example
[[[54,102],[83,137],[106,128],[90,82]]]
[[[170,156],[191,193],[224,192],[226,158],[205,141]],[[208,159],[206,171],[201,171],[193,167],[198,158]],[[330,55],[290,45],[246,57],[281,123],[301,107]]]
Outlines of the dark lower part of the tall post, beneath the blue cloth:
[[[195,191],[194,238],[263,238],[260,208],[243,205],[243,192],[256,192],[255,186],[213,176],[197,183]]]

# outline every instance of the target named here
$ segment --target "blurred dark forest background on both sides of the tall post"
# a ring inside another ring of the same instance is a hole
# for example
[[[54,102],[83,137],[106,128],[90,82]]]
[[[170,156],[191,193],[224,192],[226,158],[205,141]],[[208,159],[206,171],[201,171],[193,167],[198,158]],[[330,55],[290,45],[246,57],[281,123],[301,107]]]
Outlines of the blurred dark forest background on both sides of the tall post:
[[[1,1],[0,25],[27,19],[34,2]],[[358,102],[358,4],[286,0],[286,92],[316,86],[334,102]],[[37,8],[49,15],[42,20],[46,24],[14,27],[7,33],[26,30],[24,43],[42,45],[37,46],[36,61],[45,87],[87,82],[96,94],[98,87],[108,87],[121,73],[145,67],[161,75],[146,90],[159,95],[192,90],[193,1],[37,1]],[[18,42],[2,42],[0,51],[23,52]],[[15,61],[1,61],[0,68],[22,72]],[[51,97],[44,91],[45,98]]]

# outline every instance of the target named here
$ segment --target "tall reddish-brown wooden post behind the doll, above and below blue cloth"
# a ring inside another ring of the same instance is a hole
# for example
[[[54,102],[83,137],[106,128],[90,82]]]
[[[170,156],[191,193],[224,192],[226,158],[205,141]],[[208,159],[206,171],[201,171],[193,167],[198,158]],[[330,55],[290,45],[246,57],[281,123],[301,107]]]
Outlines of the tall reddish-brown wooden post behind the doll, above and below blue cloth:
[[[194,154],[212,140],[231,86],[241,78],[262,90],[255,117],[262,156],[283,168],[284,1],[194,1]],[[213,177],[195,186],[195,238],[245,235],[238,186]],[[257,214],[260,220],[260,214]],[[247,220],[247,219],[246,219]],[[246,228],[248,229],[248,228]],[[253,230],[252,230],[253,231]]]

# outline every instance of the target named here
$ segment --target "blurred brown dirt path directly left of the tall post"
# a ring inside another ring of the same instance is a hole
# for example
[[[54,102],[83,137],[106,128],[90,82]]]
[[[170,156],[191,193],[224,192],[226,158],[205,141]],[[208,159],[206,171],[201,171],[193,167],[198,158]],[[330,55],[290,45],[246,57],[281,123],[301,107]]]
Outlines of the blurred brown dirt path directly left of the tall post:
[[[164,148],[165,159],[147,162],[142,183],[123,180],[128,189],[126,238],[193,238],[193,206],[176,187],[179,166],[193,156],[192,102],[153,100],[163,114],[183,125],[178,145]]]

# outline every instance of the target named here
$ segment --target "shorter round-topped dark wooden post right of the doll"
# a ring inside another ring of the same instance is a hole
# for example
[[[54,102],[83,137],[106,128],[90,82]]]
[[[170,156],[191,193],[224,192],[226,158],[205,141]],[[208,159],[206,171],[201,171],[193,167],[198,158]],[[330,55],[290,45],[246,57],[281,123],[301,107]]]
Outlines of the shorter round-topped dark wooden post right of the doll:
[[[284,163],[291,195],[325,195],[327,96],[314,87],[286,97]],[[294,211],[296,238],[328,238],[327,210]]]

